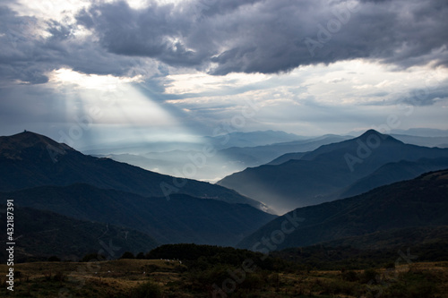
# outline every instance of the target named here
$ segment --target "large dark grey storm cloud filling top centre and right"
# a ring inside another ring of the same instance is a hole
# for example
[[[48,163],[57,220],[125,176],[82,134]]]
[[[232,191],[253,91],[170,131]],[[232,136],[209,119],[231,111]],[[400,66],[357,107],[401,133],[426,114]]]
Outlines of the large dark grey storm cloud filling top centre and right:
[[[448,3],[218,1],[94,5],[78,20],[117,55],[228,72],[286,72],[298,65],[369,58],[401,67],[448,62]]]

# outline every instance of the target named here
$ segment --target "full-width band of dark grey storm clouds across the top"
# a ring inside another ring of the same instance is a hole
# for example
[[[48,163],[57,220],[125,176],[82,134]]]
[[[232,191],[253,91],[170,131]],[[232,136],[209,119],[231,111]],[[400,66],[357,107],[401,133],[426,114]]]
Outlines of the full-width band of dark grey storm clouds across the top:
[[[30,33],[39,20],[0,7],[0,76],[41,83],[61,67],[134,75],[148,57],[217,75],[354,58],[446,66],[446,20],[445,0],[192,0],[143,9],[95,2],[77,24],[47,21],[51,37],[42,38]],[[77,38],[76,25],[94,35]]]

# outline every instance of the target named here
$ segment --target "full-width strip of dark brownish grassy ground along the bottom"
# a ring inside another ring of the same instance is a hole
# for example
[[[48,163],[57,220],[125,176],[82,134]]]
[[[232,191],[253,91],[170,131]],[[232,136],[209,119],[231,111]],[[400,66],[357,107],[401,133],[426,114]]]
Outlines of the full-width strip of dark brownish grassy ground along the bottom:
[[[15,264],[2,297],[448,297],[448,262],[368,270],[191,270],[178,260]],[[217,289],[220,289],[217,290]]]

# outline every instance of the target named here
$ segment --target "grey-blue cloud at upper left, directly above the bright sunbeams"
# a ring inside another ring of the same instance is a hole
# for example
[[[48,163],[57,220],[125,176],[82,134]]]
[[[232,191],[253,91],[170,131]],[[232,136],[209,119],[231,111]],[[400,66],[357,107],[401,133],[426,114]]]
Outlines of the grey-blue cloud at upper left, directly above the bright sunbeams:
[[[76,72],[137,75],[144,69],[139,57],[116,55],[99,47],[95,37],[79,39],[74,26],[20,16],[0,6],[0,78],[39,84],[48,81],[47,72],[63,67]],[[42,35],[45,33],[46,37]]]

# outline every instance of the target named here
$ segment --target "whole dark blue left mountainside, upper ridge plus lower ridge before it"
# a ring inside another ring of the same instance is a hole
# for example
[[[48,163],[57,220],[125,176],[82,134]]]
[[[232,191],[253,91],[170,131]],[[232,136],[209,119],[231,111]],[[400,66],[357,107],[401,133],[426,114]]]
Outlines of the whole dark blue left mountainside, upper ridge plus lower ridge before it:
[[[45,136],[0,138],[0,198],[124,226],[159,243],[235,245],[275,216],[219,185],[93,158]]]

